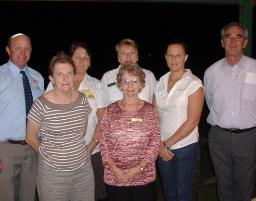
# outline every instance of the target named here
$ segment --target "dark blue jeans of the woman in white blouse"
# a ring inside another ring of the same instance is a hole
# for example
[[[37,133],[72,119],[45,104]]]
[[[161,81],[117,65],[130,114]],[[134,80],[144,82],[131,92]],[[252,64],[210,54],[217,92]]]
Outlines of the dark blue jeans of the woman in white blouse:
[[[174,149],[172,160],[158,157],[157,164],[166,201],[192,201],[197,166],[198,143]]]

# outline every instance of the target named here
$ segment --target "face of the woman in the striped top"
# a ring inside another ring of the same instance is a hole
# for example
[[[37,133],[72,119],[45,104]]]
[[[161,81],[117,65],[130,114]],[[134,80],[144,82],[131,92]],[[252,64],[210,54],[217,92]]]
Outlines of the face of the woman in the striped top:
[[[49,78],[57,90],[69,92],[73,89],[74,70],[69,63],[56,63],[53,75]]]

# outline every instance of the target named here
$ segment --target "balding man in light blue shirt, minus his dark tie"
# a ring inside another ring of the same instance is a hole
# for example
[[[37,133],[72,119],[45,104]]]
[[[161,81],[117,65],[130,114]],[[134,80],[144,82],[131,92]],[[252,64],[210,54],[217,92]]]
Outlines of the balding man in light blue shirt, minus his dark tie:
[[[0,201],[34,201],[37,153],[25,142],[24,71],[33,100],[44,93],[44,79],[27,66],[32,46],[25,34],[8,40],[9,61],[0,66]]]

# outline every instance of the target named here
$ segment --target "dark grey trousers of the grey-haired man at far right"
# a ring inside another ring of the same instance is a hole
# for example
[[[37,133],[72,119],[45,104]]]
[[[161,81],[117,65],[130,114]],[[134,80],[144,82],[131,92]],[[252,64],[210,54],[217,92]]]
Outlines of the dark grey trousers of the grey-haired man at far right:
[[[256,129],[231,134],[212,126],[209,151],[220,201],[250,201],[256,171]]]

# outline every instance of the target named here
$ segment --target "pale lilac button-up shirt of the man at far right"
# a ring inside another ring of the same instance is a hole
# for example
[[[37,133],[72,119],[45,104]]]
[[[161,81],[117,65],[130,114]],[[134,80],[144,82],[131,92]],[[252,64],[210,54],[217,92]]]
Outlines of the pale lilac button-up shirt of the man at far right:
[[[243,56],[230,66],[223,58],[206,70],[204,84],[209,124],[238,129],[256,126],[256,60]]]

